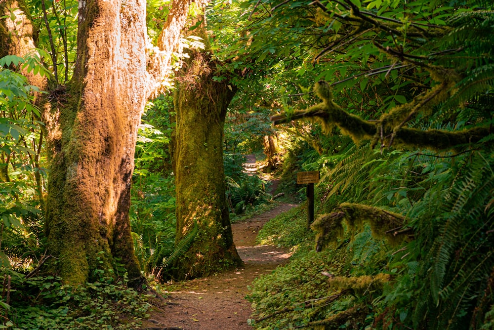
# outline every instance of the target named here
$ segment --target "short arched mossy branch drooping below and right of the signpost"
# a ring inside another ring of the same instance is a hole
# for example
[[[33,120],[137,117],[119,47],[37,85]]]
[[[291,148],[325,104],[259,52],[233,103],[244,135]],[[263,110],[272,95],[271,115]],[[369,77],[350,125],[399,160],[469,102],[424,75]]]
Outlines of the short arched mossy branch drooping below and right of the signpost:
[[[316,251],[321,251],[329,243],[336,242],[344,234],[343,220],[350,230],[362,228],[364,223],[371,225],[372,236],[386,239],[392,244],[400,244],[408,238],[408,231],[403,228],[405,217],[401,214],[387,211],[378,207],[343,203],[336,212],[323,214],[311,225],[317,232]]]

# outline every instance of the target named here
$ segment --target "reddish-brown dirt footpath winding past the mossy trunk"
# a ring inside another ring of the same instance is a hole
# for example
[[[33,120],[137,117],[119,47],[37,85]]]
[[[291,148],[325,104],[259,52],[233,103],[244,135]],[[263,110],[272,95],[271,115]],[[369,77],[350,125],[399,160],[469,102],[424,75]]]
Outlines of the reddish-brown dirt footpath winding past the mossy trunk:
[[[290,256],[281,248],[256,246],[255,237],[269,219],[293,206],[282,204],[257,217],[234,223],[233,238],[244,267],[180,284],[180,289],[169,292],[165,302],[157,302],[141,329],[252,329],[247,325],[252,312],[245,299],[247,286],[256,277],[269,274],[278,265],[286,263]]]

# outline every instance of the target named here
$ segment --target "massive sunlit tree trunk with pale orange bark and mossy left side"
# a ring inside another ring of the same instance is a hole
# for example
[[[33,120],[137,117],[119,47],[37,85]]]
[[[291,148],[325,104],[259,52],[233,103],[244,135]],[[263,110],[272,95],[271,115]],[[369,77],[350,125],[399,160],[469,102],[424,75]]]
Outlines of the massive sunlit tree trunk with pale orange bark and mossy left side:
[[[53,93],[47,220],[51,265],[65,283],[123,263],[143,278],[128,208],[137,128],[145,103],[163,91],[190,0],[175,0],[157,47],[147,47],[144,0],[79,1],[77,64]]]

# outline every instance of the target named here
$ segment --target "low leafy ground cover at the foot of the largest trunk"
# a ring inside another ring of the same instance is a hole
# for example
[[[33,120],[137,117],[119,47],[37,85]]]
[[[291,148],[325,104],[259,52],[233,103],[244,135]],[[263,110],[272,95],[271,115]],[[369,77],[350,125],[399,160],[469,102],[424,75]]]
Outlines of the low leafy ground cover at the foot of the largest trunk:
[[[147,316],[145,296],[128,289],[125,283],[112,283],[111,278],[87,283],[84,287],[63,285],[56,277],[31,277],[2,273],[11,281],[10,305],[6,329],[136,329]]]

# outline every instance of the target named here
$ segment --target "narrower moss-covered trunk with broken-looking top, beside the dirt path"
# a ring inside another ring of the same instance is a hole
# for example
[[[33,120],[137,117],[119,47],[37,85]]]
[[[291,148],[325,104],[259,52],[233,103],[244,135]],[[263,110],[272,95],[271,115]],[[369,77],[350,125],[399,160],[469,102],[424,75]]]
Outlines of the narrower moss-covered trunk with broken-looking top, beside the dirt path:
[[[196,224],[198,233],[175,264],[175,276],[180,279],[242,264],[233,244],[223,169],[223,126],[235,89],[228,82],[212,80],[216,63],[209,53],[191,49],[189,55],[178,75],[174,98],[175,243]]]

